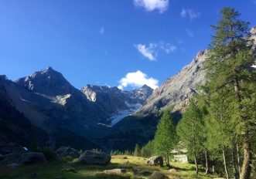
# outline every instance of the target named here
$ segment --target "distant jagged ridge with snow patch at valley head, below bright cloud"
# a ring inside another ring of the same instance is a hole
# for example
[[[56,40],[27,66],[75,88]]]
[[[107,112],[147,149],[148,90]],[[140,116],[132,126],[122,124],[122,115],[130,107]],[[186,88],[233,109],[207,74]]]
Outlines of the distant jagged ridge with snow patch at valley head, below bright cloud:
[[[87,100],[97,103],[108,113],[111,125],[118,123],[124,117],[136,110],[152,94],[152,89],[146,85],[138,90],[122,91],[118,87],[87,85],[81,89]]]

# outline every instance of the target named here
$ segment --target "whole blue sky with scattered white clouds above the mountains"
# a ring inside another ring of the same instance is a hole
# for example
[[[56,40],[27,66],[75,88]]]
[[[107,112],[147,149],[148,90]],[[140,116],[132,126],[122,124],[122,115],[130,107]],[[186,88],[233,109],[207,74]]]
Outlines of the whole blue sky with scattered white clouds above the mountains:
[[[157,87],[207,49],[227,5],[256,25],[256,0],[1,0],[0,74],[52,66],[77,88]]]

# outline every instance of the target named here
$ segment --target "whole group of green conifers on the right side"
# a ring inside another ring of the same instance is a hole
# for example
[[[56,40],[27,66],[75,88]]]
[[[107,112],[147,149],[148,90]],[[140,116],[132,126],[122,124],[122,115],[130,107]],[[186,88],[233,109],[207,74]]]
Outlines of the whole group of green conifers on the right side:
[[[179,141],[189,158],[226,178],[250,178],[256,158],[256,70],[254,42],[247,38],[248,22],[234,8],[221,10],[222,19],[212,29],[210,50],[203,70],[207,82],[189,101],[182,120],[175,127],[169,111],[162,114],[154,141],[134,154],[160,154],[169,164],[171,151]],[[179,143],[180,144],[180,143]]]

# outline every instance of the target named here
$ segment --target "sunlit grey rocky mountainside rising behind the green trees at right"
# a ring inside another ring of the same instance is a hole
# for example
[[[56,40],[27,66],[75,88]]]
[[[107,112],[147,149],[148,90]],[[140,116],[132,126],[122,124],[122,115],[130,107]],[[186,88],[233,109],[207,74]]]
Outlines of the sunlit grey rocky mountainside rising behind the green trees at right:
[[[188,66],[175,76],[166,79],[136,113],[147,115],[169,106],[174,106],[174,110],[182,110],[188,99],[197,93],[196,87],[204,83],[205,72],[200,69],[206,61],[207,52],[207,50],[198,52]]]

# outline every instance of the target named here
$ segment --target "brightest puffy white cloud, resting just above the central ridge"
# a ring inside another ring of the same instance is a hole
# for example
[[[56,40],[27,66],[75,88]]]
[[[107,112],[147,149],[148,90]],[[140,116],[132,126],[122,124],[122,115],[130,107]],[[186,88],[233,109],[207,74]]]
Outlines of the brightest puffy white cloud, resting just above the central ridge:
[[[143,85],[147,85],[152,89],[155,89],[159,87],[158,84],[159,80],[149,78],[145,73],[138,70],[137,72],[127,73],[126,76],[119,81],[118,88],[123,90],[127,86],[141,87]]]

